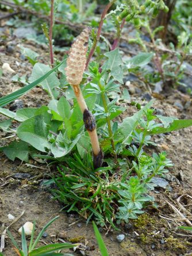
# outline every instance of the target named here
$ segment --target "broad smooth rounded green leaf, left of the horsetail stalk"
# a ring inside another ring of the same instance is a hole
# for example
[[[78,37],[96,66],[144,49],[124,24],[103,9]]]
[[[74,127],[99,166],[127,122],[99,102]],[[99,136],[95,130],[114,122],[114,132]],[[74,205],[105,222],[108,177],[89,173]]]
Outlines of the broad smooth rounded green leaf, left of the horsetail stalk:
[[[24,121],[17,129],[17,135],[24,142],[28,142],[37,150],[46,152],[46,148],[50,148],[47,136],[49,133],[49,125],[47,121],[51,121],[51,114],[43,113],[31,117]]]

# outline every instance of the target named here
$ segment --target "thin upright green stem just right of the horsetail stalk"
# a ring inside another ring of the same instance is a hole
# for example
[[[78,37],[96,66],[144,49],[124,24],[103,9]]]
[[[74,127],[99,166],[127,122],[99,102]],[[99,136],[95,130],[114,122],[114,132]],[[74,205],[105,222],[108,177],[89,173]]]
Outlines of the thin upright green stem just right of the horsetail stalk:
[[[102,90],[102,85],[101,85],[100,82],[99,82],[99,87]],[[112,144],[114,159],[115,159],[115,161],[117,163],[117,153],[116,153],[116,148],[114,146],[112,125],[110,123],[110,117],[108,116],[109,111],[108,111],[108,108],[107,108],[106,95],[105,95],[105,93],[103,91],[101,91],[101,98],[102,98],[102,102],[103,102],[103,108],[105,109],[105,113],[107,114],[106,121],[107,121],[107,127],[108,127],[108,131],[109,131],[109,138],[110,138],[110,142]]]

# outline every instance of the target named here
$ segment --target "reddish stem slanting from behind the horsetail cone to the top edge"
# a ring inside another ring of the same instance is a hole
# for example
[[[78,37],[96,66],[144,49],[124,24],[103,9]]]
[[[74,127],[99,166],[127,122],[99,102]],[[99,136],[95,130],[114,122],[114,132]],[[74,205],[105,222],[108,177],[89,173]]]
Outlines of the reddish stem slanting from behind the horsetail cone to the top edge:
[[[94,54],[95,48],[96,48],[96,46],[97,46],[97,42],[98,42],[99,39],[100,39],[100,36],[101,36],[101,29],[102,29],[102,26],[103,26],[103,22],[104,22],[104,20],[105,20],[105,16],[106,16],[108,10],[110,9],[110,7],[111,7],[111,6],[113,5],[113,3],[116,2],[116,1],[117,1],[117,0],[113,0],[112,2],[109,2],[109,3],[105,6],[105,9],[103,10],[103,13],[102,13],[102,15],[101,15],[101,20],[100,20],[100,22],[99,22],[99,28],[98,28],[98,30],[97,30],[97,37],[96,37],[96,39],[95,39],[95,41],[94,41],[94,43],[93,43],[93,46],[92,46],[91,51],[90,51],[90,53],[89,53],[89,56],[88,56],[88,58],[87,58],[86,69],[87,69],[87,67],[88,67],[88,65],[89,65],[89,62],[90,62],[90,60],[91,60],[91,58],[92,58],[92,56],[93,56],[93,54]]]

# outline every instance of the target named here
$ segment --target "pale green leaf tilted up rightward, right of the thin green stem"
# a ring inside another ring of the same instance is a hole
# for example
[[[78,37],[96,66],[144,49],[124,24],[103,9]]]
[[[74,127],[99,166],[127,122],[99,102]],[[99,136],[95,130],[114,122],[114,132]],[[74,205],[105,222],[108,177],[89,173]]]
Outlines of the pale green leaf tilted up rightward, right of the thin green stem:
[[[124,140],[122,142],[123,144],[130,143],[130,135],[132,134],[133,130],[137,127],[139,120],[144,114],[144,111],[151,108],[152,104],[153,104],[153,101],[150,101],[141,110],[133,114],[133,116],[126,117],[124,121],[122,121],[120,125],[120,133],[124,135]]]

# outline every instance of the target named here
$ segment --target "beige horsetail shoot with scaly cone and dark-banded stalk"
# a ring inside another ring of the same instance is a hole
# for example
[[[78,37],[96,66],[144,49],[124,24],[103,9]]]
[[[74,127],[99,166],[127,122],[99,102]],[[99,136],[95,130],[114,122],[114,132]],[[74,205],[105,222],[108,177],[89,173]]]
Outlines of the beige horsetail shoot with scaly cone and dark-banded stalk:
[[[76,100],[78,101],[80,110],[83,113],[83,121],[85,128],[89,133],[91,144],[93,147],[93,163],[94,168],[102,166],[103,152],[99,146],[96,124],[93,114],[87,108],[85,99],[83,98],[82,91],[80,90],[80,82],[83,78],[83,72],[86,67],[86,53],[88,48],[90,28],[86,28],[76,38],[74,44],[72,44],[70,53],[67,59],[66,78],[68,83],[74,89]]]

